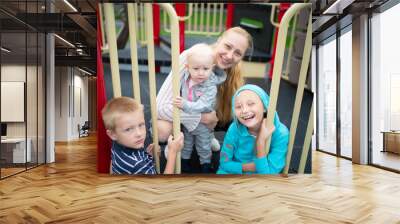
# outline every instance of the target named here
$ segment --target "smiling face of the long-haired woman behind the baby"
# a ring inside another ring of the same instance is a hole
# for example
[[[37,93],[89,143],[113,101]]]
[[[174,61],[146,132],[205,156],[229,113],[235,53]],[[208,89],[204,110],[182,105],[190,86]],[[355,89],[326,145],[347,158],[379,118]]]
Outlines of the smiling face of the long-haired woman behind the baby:
[[[216,65],[221,69],[231,68],[242,60],[247,48],[245,36],[233,31],[226,33],[216,44]]]

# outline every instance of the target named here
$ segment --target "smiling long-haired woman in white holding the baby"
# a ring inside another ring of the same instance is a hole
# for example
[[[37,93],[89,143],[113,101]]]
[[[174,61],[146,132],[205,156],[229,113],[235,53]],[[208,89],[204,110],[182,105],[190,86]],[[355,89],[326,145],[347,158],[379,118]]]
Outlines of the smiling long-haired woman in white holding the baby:
[[[214,73],[222,80],[218,86],[215,111],[209,113],[181,112],[181,123],[188,131],[194,130],[199,123],[214,129],[219,121],[227,125],[232,120],[231,99],[236,90],[244,83],[240,70],[240,62],[245,54],[253,49],[251,35],[241,27],[232,27],[224,31],[217,42],[212,45],[215,54]],[[179,56],[180,77],[185,73],[187,54],[190,48]],[[157,94],[158,135],[165,142],[172,133],[172,74],[170,73]]]

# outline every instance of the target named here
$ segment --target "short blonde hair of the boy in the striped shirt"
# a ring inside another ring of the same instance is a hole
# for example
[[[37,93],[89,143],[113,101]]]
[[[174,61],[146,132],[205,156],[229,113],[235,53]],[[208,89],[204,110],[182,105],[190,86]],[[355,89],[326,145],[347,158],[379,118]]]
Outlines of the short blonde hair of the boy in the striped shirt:
[[[107,130],[115,130],[115,120],[123,113],[135,112],[141,110],[143,105],[130,97],[117,97],[107,102],[101,111],[103,115],[104,126]]]

